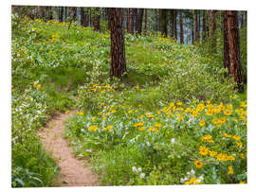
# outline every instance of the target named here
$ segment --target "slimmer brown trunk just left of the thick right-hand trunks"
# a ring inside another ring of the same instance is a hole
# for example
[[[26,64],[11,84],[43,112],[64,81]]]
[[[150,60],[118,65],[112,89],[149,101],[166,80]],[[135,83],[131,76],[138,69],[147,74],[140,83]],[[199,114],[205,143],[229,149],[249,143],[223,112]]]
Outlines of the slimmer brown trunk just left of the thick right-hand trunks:
[[[216,29],[216,22],[215,22],[215,15],[216,10],[210,10],[210,28],[209,28],[209,38],[210,38],[210,50],[211,52],[216,52],[216,39],[214,37],[215,29]]]

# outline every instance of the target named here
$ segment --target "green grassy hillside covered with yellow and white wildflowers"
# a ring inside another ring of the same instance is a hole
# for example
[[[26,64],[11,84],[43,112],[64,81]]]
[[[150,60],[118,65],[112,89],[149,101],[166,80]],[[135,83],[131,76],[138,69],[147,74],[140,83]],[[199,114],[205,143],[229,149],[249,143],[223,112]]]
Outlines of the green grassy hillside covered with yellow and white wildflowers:
[[[101,184],[245,182],[246,94],[219,60],[155,35],[125,34],[125,52],[127,74],[110,79],[109,31],[13,15],[12,186],[54,184],[36,131],[75,108],[65,137]]]

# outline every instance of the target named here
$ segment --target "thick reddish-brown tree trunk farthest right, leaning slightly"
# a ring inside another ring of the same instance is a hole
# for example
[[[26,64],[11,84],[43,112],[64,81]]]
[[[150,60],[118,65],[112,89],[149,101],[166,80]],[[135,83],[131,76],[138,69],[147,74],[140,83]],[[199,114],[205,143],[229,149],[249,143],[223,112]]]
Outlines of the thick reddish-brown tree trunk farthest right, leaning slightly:
[[[243,73],[240,54],[240,38],[236,10],[227,10],[230,76],[237,84],[237,89],[244,91]]]

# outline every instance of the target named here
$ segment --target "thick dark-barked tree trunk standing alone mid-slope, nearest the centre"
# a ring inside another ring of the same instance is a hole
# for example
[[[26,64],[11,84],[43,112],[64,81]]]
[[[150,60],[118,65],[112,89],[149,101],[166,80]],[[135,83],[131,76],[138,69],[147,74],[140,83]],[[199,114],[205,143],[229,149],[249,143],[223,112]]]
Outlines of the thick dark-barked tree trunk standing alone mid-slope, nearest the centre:
[[[122,30],[121,8],[112,8],[110,13],[111,21],[111,68],[110,77],[120,78],[126,71],[124,36]]]

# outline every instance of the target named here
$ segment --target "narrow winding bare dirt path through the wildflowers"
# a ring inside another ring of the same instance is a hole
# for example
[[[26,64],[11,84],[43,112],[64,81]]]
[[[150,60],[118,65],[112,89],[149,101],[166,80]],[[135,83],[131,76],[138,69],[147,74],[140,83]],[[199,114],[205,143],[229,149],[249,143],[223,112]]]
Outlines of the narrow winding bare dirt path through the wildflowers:
[[[96,186],[100,185],[97,175],[90,167],[84,167],[84,161],[75,158],[72,148],[64,139],[64,120],[76,113],[61,113],[51,119],[46,128],[41,131],[41,138],[46,151],[52,151],[52,156],[61,168],[61,186]],[[63,181],[67,183],[63,183]]]

